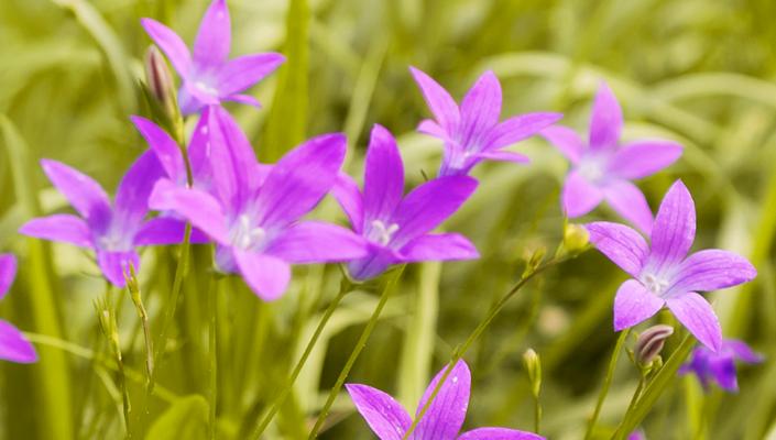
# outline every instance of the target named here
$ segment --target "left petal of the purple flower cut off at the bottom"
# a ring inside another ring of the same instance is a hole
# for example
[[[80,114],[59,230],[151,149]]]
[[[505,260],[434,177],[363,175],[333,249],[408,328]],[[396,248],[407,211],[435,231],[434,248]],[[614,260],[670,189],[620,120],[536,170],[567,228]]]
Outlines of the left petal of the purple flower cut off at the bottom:
[[[356,409],[380,440],[402,440],[412,425],[409,415],[393,397],[367,385],[346,384]]]

